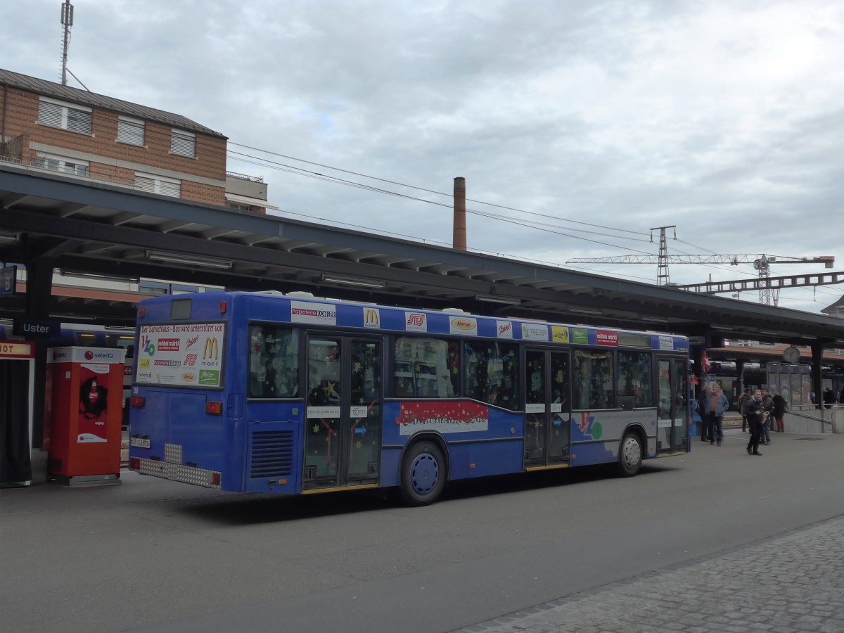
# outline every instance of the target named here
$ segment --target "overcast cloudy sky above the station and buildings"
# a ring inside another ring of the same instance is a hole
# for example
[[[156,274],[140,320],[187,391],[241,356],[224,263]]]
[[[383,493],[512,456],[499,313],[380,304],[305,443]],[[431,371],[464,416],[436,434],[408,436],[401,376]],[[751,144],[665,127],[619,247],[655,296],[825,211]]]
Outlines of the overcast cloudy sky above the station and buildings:
[[[61,4],[0,2],[0,68],[61,81]],[[463,176],[472,251],[656,283],[656,264],[566,261],[656,255],[650,229],[676,225],[669,253],[833,255],[844,270],[841,0],[73,6],[73,75],[225,134],[228,169],[263,176],[284,217],[447,246]],[[842,292],[783,290],[780,306]]]

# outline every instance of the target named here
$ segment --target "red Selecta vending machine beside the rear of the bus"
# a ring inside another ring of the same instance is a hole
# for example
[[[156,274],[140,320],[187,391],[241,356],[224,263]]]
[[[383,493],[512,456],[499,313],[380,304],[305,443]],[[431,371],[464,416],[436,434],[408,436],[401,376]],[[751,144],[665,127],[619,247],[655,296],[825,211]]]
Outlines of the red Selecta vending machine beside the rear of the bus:
[[[48,479],[120,484],[123,409],[120,348],[47,350]]]

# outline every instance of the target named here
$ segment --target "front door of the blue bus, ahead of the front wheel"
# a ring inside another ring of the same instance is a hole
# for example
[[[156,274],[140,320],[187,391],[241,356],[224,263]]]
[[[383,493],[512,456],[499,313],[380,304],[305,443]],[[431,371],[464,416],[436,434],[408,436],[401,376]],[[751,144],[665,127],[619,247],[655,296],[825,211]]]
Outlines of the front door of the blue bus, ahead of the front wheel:
[[[657,453],[687,450],[689,393],[685,359],[657,359],[659,403],[657,407]]]

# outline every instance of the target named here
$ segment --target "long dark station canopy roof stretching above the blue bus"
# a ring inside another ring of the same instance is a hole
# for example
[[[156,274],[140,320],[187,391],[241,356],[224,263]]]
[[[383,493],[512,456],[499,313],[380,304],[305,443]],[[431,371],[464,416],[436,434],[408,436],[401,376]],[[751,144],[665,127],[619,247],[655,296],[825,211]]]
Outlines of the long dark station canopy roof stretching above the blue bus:
[[[0,261],[110,279],[310,291],[335,299],[795,345],[844,345],[844,321],[776,306],[208,206],[0,164]],[[563,254],[564,255],[564,254]],[[3,297],[21,317],[25,298]],[[134,322],[136,306],[51,295],[52,318]],[[707,344],[709,344],[707,340]]]

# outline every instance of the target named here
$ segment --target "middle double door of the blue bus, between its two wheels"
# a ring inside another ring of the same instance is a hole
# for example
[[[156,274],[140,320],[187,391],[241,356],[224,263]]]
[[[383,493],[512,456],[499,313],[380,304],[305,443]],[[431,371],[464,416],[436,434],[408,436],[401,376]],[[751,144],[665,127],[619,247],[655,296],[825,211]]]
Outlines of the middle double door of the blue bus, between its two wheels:
[[[564,466],[571,447],[568,350],[528,348],[525,367],[525,468]]]

